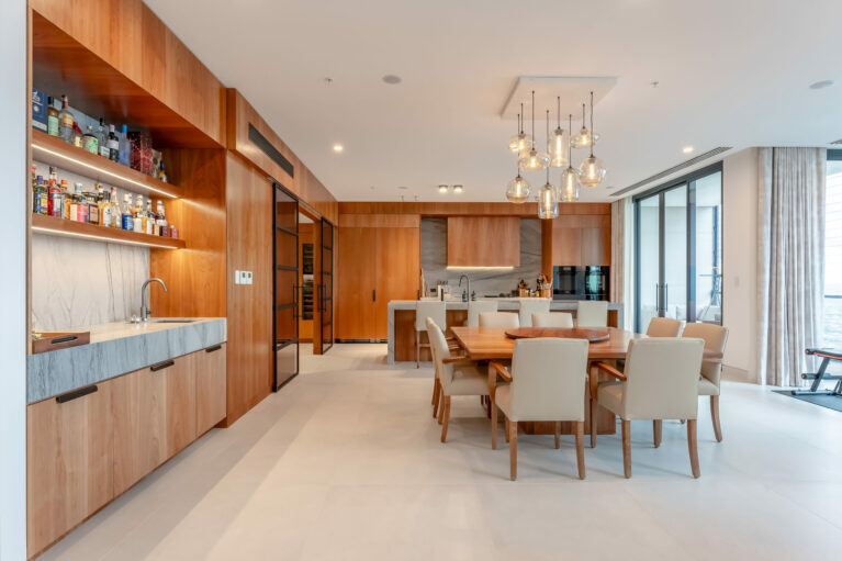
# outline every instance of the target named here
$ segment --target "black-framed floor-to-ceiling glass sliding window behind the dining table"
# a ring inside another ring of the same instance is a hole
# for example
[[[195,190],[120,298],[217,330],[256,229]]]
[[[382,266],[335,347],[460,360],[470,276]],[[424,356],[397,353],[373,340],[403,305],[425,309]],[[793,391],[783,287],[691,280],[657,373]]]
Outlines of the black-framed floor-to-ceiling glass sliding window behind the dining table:
[[[635,197],[635,327],[722,323],[722,165]]]

